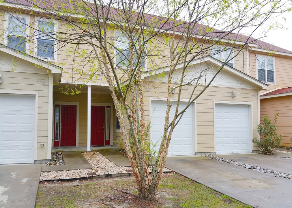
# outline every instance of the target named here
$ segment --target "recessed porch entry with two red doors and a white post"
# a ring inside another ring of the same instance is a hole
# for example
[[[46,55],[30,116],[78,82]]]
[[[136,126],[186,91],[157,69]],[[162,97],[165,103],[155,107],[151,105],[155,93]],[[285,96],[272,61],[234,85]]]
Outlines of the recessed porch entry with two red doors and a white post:
[[[53,93],[52,146],[87,146],[91,151],[91,147],[112,145],[115,116],[108,87],[84,85],[74,97],[61,93],[66,86],[60,83]]]

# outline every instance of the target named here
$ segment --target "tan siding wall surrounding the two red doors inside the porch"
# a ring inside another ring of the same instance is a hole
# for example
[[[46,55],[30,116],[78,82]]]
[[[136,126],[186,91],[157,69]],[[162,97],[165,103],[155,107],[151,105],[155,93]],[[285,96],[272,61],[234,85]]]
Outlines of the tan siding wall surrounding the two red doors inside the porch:
[[[58,86],[54,87],[55,90],[58,90],[57,88]],[[87,146],[87,93],[82,92],[77,97],[75,97],[74,95],[65,95],[65,94],[62,94],[60,91],[54,91],[53,101],[60,102],[61,104],[64,104],[64,105],[74,105],[74,104],[71,104],[70,102],[79,103],[79,121],[77,121],[77,123],[79,123],[78,145],[79,147]],[[108,103],[108,106],[112,106],[112,97],[110,94],[92,93],[91,103]],[[115,118],[115,114],[111,115],[111,119],[113,118]]]

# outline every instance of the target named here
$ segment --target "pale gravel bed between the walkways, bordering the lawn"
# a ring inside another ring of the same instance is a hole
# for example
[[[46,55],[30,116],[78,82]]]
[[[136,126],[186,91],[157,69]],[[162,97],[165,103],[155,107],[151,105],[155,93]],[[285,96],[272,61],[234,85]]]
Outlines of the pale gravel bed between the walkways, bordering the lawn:
[[[92,166],[92,169],[64,170],[64,171],[43,171],[41,172],[40,181],[59,180],[71,178],[83,178],[89,176],[100,176],[116,173],[131,173],[131,167],[116,166],[99,152],[84,152],[82,155]],[[164,172],[171,170],[164,168]]]

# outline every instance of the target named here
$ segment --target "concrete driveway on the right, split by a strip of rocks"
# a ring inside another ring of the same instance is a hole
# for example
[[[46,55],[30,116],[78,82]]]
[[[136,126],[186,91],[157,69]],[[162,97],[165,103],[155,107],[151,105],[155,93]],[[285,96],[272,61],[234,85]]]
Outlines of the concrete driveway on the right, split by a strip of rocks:
[[[292,160],[261,154],[216,155],[292,174]],[[289,155],[292,157],[292,155]],[[167,157],[166,167],[257,208],[292,207],[292,180],[204,156]]]

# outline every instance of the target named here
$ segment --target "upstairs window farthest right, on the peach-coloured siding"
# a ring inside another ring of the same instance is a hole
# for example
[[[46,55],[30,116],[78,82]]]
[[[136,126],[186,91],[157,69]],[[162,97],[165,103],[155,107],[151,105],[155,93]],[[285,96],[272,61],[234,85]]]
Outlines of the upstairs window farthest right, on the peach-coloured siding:
[[[275,83],[274,58],[257,56],[258,80]]]

